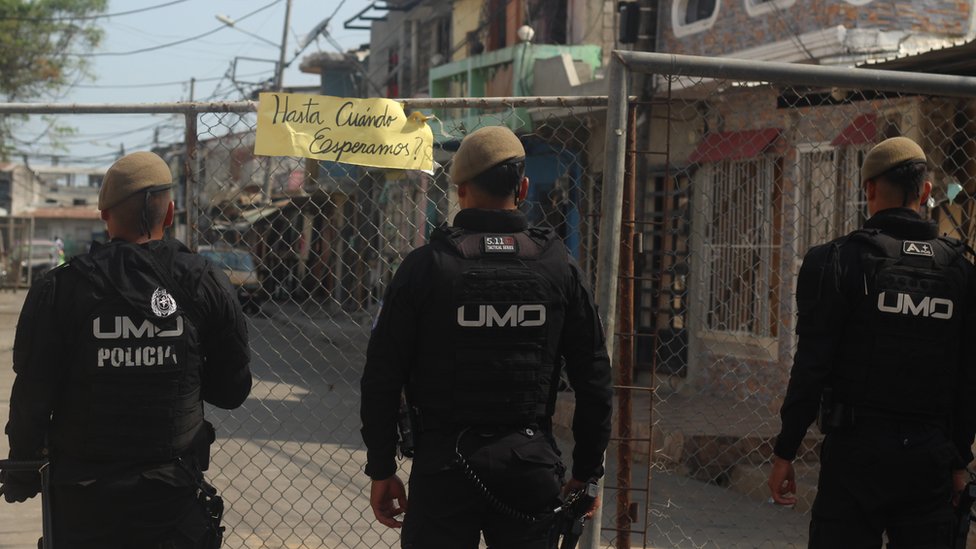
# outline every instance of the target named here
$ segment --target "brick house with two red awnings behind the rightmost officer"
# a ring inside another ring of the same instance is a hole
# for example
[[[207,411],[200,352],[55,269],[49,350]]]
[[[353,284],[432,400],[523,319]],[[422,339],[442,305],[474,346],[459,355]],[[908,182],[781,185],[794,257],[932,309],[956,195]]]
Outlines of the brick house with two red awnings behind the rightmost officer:
[[[662,52],[845,67],[914,59],[925,70],[926,52],[968,43],[976,21],[972,2],[647,4]],[[949,182],[971,186],[973,166],[960,161],[973,147],[971,102],[829,83],[660,78],[647,89],[658,102],[644,113],[639,148],[668,155],[641,168],[649,184],[638,210],[663,223],[643,225],[637,277],[660,282],[638,290],[639,362],[776,409],[795,348],[800,260],[866,217],[864,152],[888,136],[916,139],[944,202]]]

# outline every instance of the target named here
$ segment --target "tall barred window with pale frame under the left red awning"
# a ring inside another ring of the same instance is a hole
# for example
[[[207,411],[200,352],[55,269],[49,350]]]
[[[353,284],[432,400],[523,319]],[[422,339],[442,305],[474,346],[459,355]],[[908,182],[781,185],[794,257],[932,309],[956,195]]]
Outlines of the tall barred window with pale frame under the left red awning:
[[[781,237],[779,161],[722,160],[704,171],[705,329],[775,338]]]

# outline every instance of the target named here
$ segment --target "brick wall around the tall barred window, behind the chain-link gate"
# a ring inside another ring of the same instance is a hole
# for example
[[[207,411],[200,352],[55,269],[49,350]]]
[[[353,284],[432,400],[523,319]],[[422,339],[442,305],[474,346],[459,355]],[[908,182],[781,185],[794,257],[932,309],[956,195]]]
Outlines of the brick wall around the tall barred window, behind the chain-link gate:
[[[799,223],[796,218],[799,184],[796,179],[798,173],[795,171],[798,161],[796,147],[804,144],[815,148],[826,147],[826,144],[859,115],[874,113],[878,116],[879,132],[884,132],[887,126],[892,125],[892,131],[896,128],[899,133],[923,144],[934,168],[933,180],[937,186],[944,185],[944,173],[939,166],[945,161],[942,149],[946,147],[946,141],[951,134],[946,128],[951,126],[953,115],[960,108],[959,101],[904,97],[784,109],[777,108],[776,105],[779,92],[778,87],[727,90],[712,97],[708,101],[709,108],[704,111],[692,110],[685,104],[683,110],[678,109],[672,113],[675,119],[685,121],[685,125],[672,126],[672,139],[678,140],[688,133],[689,127],[700,129],[706,124],[710,132],[763,128],[783,130],[781,143],[776,147],[778,156],[782,158],[782,175],[775,183],[778,197],[775,209],[783,216],[779,222],[774,223],[774,230],[780,232],[776,239],[780,247],[776,254],[778,270],[774,275],[778,295],[776,336],[773,341],[752,341],[740,337],[730,344],[727,340],[723,342],[722,339],[713,339],[707,333],[701,332],[699,319],[692,330],[702,337],[701,354],[693,357],[690,365],[694,369],[692,376],[697,390],[724,394],[741,401],[755,401],[771,411],[778,409],[782,402],[795,351],[794,285],[796,268],[806,251],[795,249],[794,246],[797,238],[795,227]],[[676,103],[675,106],[680,104]],[[702,112],[705,112],[704,118],[701,117]],[[664,133],[652,132],[652,135],[655,137],[651,148],[662,148],[664,144],[658,140],[666,137]],[[879,136],[881,137],[883,136]],[[869,147],[870,144],[864,146]],[[675,165],[685,165],[689,147],[674,149],[672,153],[677,154],[672,155],[671,161]],[[696,230],[704,229],[699,227]],[[695,262],[698,259],[692,256],[690,261]],[[704,298],[704,283],[705,281],[698,281],[690,286],[690,300]],[[749,348],[753,352],[749,352]],[[763,353],[769,356],[758,356]]]

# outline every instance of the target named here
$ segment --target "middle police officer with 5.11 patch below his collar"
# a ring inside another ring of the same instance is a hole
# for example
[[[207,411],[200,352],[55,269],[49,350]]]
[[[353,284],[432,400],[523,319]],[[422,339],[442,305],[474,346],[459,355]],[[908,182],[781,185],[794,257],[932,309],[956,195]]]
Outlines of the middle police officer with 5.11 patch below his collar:
[[[404,548],[473,549],[481,532],[489,547],[548,547],[564,481],[551,423],[564,368],[576,394],[565,488],[603,474],[603,331],[566,247],[517,209],[524,160],[507,128],[464,138],[450,173],[462,210],[404,259],[370,337],[361,408],[370,504],[391,528],[406,513]],[[409,499],[395,474],[404,387],[416,436]]]

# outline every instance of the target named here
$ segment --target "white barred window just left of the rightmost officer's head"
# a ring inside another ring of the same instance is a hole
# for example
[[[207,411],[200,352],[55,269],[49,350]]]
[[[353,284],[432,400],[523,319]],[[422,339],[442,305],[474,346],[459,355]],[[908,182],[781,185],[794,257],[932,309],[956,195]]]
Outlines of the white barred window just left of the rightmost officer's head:
[[[811,247],[845,235],[867,219],[858,180],[862,154],[854,147],[799,148],[797,261]]]

